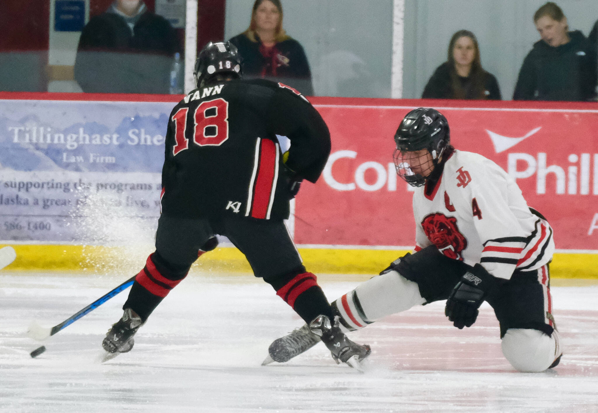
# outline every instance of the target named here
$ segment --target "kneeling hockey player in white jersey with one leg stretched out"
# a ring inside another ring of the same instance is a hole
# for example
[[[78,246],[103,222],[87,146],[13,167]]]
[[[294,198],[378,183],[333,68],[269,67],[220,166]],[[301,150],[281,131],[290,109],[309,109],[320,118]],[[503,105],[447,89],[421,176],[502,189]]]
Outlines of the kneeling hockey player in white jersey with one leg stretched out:
[[[517,183],[493,161],[450,145],[440,112],[418,108],[401,121],[396,172],[416,186],[416,246],[379,276],[332,303],[344,331],[355,331],[414,305],[447,300],[445,314],[462,329],[487,301],[500,323],[502,353],[522,372],[556,366],[562,356],[554,325],[548,264],[553,230],[527,206]],[[275,340],[264,363],[285,362],[317,344],[309,329]]]

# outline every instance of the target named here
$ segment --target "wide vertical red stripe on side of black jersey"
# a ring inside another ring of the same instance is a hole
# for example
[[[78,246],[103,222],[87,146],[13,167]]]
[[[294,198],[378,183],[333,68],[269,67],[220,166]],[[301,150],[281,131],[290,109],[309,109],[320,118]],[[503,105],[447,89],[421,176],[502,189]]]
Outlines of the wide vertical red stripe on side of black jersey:
[[[274,186],[274,170],[276,169],[276,144],[270,139],[260,142],[260,166],[255,178],[255,188],[251,216],[266,219],[270,196]]]

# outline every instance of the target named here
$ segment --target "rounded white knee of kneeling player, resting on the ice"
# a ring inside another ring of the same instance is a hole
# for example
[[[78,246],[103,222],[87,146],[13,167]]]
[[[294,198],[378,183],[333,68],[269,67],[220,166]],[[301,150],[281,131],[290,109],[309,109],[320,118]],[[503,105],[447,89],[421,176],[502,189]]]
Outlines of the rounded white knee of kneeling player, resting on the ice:
[[[546,335],[534,329],[508,329],[501,342],[502,354],[521,372],[541,372],[560,356],[559,333]]]

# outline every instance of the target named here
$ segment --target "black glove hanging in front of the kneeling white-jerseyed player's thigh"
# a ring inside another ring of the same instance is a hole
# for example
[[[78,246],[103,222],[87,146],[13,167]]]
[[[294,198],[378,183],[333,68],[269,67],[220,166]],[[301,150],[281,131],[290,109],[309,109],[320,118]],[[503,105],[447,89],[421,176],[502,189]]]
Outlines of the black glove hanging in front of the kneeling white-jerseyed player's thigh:
[[[484,299],[498,289],[499,280],[480,264],[466,272],[447,299],[444,315],[453,325],[462,329],[471,327],[478,317],[478,308]]]

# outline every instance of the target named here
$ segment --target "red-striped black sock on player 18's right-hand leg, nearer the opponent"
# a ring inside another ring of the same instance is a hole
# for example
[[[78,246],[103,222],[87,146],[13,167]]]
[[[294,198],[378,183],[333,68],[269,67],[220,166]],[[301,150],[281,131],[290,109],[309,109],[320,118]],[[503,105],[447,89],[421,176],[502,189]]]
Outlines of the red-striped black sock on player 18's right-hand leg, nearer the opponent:
[[[297,274],[295,271],[281,279],[267,282],[274,287],[276,295],[285,300],[306,323],[312,322],[321,314],[332,319],[330,304],[314,274]]]

